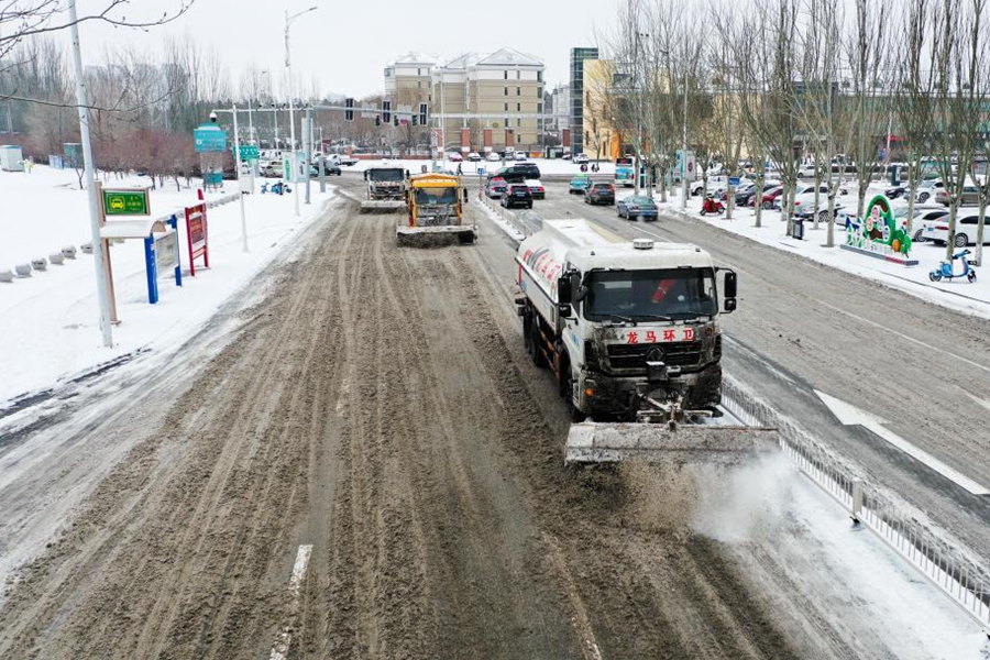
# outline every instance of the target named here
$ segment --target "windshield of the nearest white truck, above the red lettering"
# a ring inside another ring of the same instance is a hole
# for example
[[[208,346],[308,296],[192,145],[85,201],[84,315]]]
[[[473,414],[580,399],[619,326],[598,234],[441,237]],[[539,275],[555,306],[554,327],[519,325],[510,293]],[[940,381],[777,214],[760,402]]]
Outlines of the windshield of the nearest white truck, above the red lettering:
[[[686,320],[718,310],[712,268],[603,271],[591,273],[584,318]]]

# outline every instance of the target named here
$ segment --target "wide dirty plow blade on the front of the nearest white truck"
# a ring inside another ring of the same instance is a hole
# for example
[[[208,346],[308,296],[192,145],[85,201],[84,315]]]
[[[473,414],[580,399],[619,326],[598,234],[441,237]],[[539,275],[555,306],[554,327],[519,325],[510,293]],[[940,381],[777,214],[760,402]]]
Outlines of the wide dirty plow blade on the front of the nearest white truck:
[[[774,451],[777,429],[663,424],[595,424],[571,426],[564,464],[645,461],[734,464]]]

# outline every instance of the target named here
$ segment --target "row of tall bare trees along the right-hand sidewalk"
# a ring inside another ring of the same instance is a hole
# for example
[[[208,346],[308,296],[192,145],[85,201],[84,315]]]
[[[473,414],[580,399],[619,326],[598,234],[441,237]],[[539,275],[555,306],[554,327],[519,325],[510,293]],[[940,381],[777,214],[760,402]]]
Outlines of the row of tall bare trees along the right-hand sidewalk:
[[[815,188],[828,190],[816,195],[813,216],[815,229],[820,209],[827,218],[828,245],[849,163],[860,217],[870,183],[891,161],[905,170],[909,222],[919,185],[938,176],[948,194],[948,252],[964,188],[976,185],[981,258],[990,201],[990,179],[976,176],[988,152],[987,3],[904,0],[890,11],[884,0],[625,0],[600,38],[608,75],[585,79],[586,112],[607,118],[657,174],[664,199],[685,128],[703,176],[708,162],[737,175],[748,160],[762,189],[770,166],[784,186],[789,230],[799,174],[812,166]]]

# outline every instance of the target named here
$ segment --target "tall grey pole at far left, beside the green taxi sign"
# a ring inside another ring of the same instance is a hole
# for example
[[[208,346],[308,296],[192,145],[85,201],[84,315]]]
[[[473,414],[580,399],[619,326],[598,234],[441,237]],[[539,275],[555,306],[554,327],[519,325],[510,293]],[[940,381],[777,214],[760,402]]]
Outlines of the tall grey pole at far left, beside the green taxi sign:
[[[76,15],[76,0],[68,0],[69,31],[73,37],[73,65],[76,69],[76,106],[79,111],[79,139],[82,142],[82,163],[86,168],[86,191],[89,198],[89,229],[92,241],[92,261],[97,277],[97,299],[100,305],[100,331],[103,346],[113,348],[110,326],[110,287],[103,271],[103,241],[100,235],[100,199],[97,196],[96,174],[92,162],[92,143],[89,138],[89,100],[86,79],[82,77],[82,51],[79,47],[79,20]]]

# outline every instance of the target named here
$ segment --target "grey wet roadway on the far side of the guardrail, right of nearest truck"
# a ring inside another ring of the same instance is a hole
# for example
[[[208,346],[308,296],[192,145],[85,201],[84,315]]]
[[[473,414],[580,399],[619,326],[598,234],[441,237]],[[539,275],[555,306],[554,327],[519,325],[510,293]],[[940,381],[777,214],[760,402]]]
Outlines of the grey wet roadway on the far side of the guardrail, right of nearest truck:
[[[547,199],[532,212],[516,213],[530,229],[541,218],[584,217],[630,239],[701,245],[734,267],[740,301],[723,319],[726,369],[990,565],[990,496],[974,495],[862,427],[843,427],[815,393],[886,420],[893,433],[990,488],[986,320],[701,221],[630,222],[617,218],[615,207],[568,195],[565,185],[546,188]],[[630,194],[617,190],[619,198]],[[695,209],[700,204],[691,201]]]

